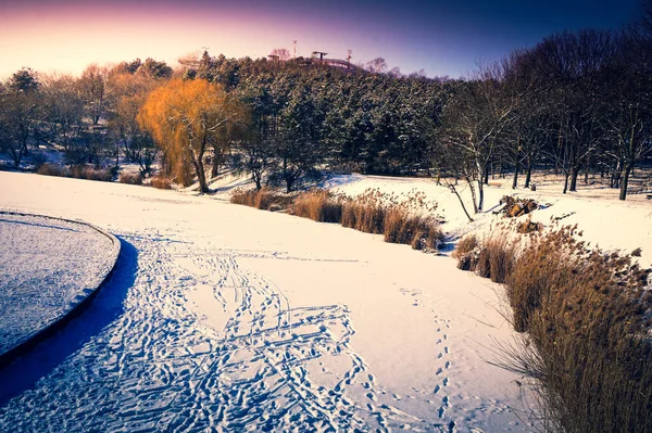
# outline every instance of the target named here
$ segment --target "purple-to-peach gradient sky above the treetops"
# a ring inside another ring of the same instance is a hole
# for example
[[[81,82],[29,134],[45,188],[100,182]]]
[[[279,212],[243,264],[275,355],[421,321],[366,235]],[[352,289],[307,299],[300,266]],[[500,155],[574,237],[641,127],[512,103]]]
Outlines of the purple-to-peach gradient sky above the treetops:
[[[352,62],[384,58],[453,78],[564,29],[618,28],[638,0],[0,0],[0,79],[21,67],[75,75],[91,63],[227,58],[275,48]]]

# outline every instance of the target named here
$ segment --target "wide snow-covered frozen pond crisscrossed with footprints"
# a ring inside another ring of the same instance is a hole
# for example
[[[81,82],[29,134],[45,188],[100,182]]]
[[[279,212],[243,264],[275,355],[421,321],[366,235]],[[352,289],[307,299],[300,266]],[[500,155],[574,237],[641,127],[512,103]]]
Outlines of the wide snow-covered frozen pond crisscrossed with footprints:
[[[497,288],[450,257],[188,193],[0,181],[1,209],[123,243],[91,307],[0,371],[0,431],[527,430],[487,362],[513,338]]]

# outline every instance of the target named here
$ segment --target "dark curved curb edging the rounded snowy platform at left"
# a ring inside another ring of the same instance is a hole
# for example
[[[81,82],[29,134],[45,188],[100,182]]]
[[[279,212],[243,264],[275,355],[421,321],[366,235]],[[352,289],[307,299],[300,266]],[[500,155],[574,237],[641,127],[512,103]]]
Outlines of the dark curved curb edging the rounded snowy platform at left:
[[[58,331],[63,329],[72,319],[79,316],[86,308],[88,308],[88,306],[92,303],[92,300],[99,293],[100,289],[102,286],[104,286],[104,284],[109,281],[109,279],[113,275],[113,271],[115,270],[116,265],[117,265],[117,257],[120,256],[120,252],[121,252],[121,243],[120,243],[120,240],[116,237],[114,237],[113,234],[111,234],[110,232],[102,230],[99,227],[93,226],[89,222],[85,222],[85,221],[80,221],[80,220],[65,219],[65,218],[53,217],[53,216],[49,216],[49,215],[28,214],[28,213],[23,213],[23,212],[8,212],[8,211],[0,211],[0,215],[14,215],[14,216],[25,216],[25,217],[48,218],[48,219],[55,219],[59,221],[64,221],[64,222],[70,222],[70,224],[78,224],[78,225],[87,226],[87,227],[96,230],[98,233],[106,237],[111,241],[111,245],[112,245],[109,259],[100,268],[100,272],[97,278],[97,282],[93,284],[95,289],[91,289],[91,292],[88,293],[86,296],[84,296],[84,298],[82,301],[78,301],[76,304],[71,305],[71,308],[66,313],[59,316],[57,319],[51,321],[49,324],[45,326],[39,331],[36,331],[32,335],[28,335],[24,341],[22,341],[14,347],[10,348],[5,353],[0,354],[0,368],[2,368],[2,367],[10,365],[11,362],[13,362],[20,356],[29,352],[32,348],[34,348],[36,345],[41,343],[43,340],[52,336],[54,333],[57,333]],[[86,289],[89,289],[89,288],[84,288],[85,291],[86,291]]]

